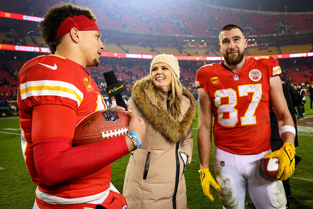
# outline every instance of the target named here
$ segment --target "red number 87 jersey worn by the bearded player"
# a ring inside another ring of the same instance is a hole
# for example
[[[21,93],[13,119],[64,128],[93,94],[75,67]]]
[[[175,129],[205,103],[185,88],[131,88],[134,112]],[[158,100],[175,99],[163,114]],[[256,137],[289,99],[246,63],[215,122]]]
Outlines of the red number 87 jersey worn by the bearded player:
[[[196,74],[213,102],[214,144],[234,154],[259,154],[270,149],[269,79],[280,76],[278,61],[255,57],[233,73],[222,63],[204,65]]]

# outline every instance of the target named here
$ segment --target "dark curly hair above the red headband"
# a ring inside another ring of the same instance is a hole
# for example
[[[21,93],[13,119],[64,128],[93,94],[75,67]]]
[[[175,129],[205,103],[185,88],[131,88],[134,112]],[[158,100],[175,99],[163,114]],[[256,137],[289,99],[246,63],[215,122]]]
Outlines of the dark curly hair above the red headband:
[[[68,17],[74,17],[79,15],[85,15],[87,18],[93,19],[95,22],[97,19],[95,15],[88,8],[78,7],[70,3],[61,2],[49,9],[44,15],[44,20],[38,25],[41,27],[41,36],[45,44],[49,46],[51,54],[55,53],[57,45],[61,43],[63,37],[55,40],[55,34],[60,24]]]

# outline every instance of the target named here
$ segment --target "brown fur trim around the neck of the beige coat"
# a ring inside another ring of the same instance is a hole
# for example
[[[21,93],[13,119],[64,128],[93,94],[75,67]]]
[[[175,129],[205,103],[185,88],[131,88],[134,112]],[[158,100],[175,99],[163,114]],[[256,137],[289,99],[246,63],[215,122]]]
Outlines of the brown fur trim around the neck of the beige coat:
[[[169,142],[182,142],[190,131],[192,122],[195,120],[196,101],[194,97],[186,88],[183,88],[182,100],[189,100],[190,107],[182,107],[184,118],[178,122],[169,112],[161,110],[153,104],[147,90],[150,80],[151,76],[147,76],[134,84],[132,97],[136,107],[152,127],[157,129]]]

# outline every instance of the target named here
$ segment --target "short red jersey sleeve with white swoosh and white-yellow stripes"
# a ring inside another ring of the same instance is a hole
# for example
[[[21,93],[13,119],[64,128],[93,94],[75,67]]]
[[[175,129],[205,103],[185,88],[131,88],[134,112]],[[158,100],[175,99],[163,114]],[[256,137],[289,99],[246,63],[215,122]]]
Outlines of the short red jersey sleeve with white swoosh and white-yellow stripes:
[[[85,86],[80,82],[82,68],[71,60],[53,55],[27,62],[18,74],[21,102],[28,109],[58,104],[77,112],[85,92]]]

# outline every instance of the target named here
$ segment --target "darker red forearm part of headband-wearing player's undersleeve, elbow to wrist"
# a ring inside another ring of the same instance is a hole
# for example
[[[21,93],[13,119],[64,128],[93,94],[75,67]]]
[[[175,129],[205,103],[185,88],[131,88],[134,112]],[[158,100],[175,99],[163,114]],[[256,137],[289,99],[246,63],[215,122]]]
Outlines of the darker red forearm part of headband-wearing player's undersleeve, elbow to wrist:
[[[128,154],[125,137],[78,147],[72,139],[43,138],[33,143],[36,170],[44,185],[53,186],[95,173]]]

